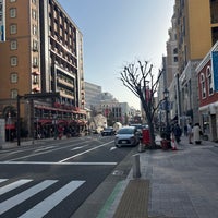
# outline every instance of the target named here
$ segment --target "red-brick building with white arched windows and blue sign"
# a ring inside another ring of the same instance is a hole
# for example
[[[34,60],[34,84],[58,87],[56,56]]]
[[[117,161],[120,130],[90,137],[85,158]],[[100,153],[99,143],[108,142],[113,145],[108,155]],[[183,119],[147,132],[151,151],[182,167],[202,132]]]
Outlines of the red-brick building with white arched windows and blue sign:
[[[218,41],[196,68],[199,122],[209,140],[218,140]]]

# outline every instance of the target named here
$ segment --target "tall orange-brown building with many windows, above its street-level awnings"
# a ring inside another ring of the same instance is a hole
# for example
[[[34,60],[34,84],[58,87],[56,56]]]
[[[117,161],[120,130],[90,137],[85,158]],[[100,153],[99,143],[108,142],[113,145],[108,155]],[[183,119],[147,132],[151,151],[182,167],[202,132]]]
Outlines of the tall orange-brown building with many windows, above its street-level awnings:
[[[16,96],[25,94],[60,93],[56,102],[34,105],[39,119],[45,119],[46,104],[49,122],[61,109],[62,113],[69,110],[68,118],[73,118],[73,110],[84,109],[83,35],[57,0],[7,0],[0,56],[1,117],[10,112],[13,119]]]

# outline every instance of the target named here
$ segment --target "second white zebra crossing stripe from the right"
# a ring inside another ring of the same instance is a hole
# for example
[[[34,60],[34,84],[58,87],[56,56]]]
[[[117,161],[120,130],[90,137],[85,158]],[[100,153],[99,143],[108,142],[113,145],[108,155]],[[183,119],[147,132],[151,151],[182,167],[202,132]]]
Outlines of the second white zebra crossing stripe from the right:
[[[58,180],[45,180],[44,182],[40,182],[39,184],[2,202],[0,204],[0,215],[8,211],[9,209],[15,207],[16,205],[21,204],[22,202],[28,199],[33,195],[39,193],[40,191],[47,189],[48,186],[56,183]]]

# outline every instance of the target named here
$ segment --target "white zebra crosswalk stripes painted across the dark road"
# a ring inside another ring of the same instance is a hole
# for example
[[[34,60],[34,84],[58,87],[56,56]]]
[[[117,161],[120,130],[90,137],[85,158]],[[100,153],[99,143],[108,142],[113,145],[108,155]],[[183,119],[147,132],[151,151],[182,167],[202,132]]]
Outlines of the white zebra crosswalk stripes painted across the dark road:
[[[46,191],[46,189],[50,187],[51,185],[56,184],[59,180],[44,180],[38,183],[34,183],[33,186],[27,187],[26,190],[22,191],[21,193],[11,196],[3,202],[0,203],[0,216],[4,213],[9,211],[10,209],[14,208],[15,206],[22,204],[24,201],[33,197],[34,195]],[[4,185],[3,183],[7,182]],[[4,194],[10,193],[13,190],[16,190],[24,184],[33,182],[32,179],[20,179],[17,181],[10,182],[9,179],[0,179],[0,199],[1,196]],[[48,214],[53,207],[60,204],[65,197],[72,194],[75,190],[77,190],[81,185],[83,185],[85,181],[81,180],[73,180],[69,183],[61,186],[61,189],[56,190],[51,195],[47,196],[46,198],[41,199],[31,209],[25,211],[20,216],[20,218],[29,218],[29,217],[44,217]]]

